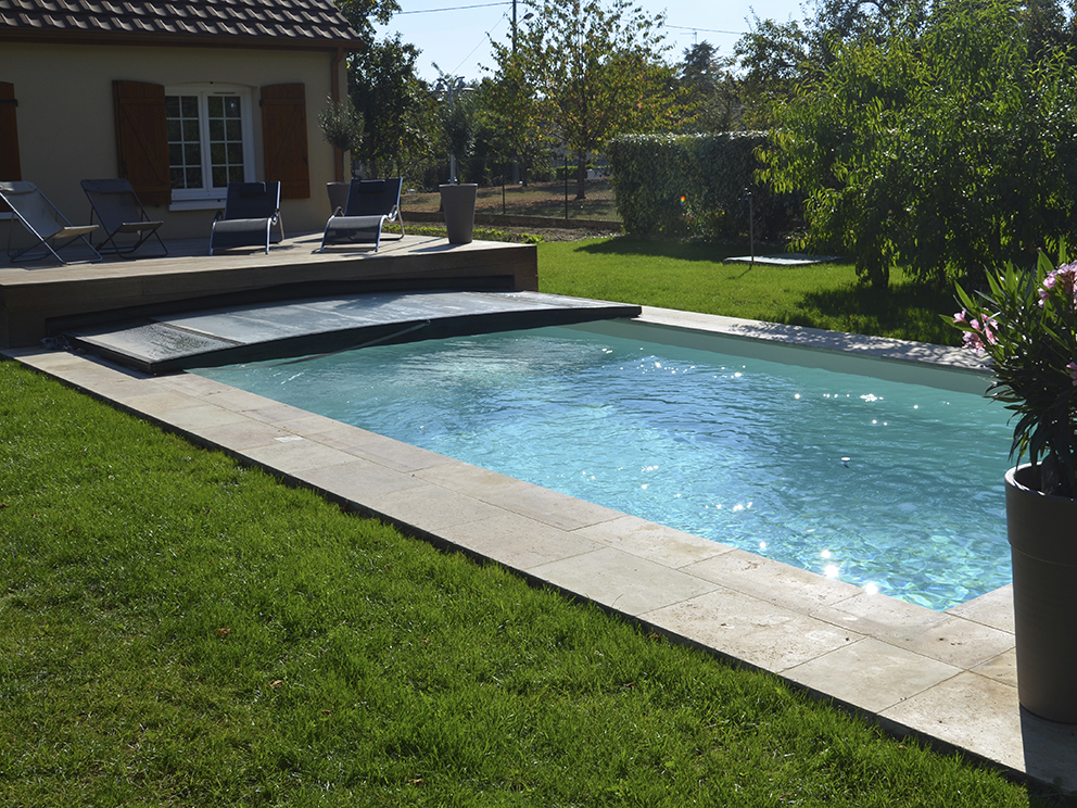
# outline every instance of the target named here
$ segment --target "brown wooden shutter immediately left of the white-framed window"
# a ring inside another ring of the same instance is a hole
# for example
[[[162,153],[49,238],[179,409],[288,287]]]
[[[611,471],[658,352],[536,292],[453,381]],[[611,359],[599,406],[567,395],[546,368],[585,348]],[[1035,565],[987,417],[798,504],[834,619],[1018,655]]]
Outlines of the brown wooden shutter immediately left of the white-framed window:
[[[165,88],[144,81],[113,81],[119,176],[144,205],[172,201]]]

